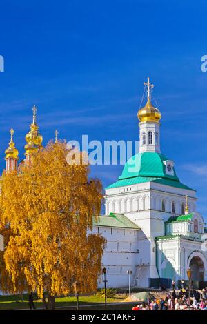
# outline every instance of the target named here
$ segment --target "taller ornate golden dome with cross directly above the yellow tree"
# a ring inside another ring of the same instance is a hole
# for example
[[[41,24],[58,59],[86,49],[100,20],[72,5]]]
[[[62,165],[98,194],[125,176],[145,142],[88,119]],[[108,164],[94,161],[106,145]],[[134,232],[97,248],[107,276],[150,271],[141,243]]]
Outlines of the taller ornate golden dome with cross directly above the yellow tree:
[[[35,105],[32,108],[32,110],[33,110],[33,122],[30,125],[30,132],[28,132],[28,134],[26,134],[25,136],[27,144],[25,145],[24,148],[26,152],[27,151],[36,152],[39,148],[41,148],[41,143],[43,141],[43,136],[41,136],[39,132],[39,127],[36,123],[37,108],[35,107]]]

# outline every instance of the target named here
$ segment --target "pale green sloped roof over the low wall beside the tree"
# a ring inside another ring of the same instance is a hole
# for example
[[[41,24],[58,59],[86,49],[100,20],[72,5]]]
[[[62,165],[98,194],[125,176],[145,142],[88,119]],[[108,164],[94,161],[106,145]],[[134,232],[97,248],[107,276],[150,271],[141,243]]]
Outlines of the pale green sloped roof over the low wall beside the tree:
[[[131,228],[133,230],[139,230],[139,226],[130,221],[130,219],[128,219],[128,217],[126,217],[124,214],[115,214],[112,212],[109,216],[94,217],[92,225]]]

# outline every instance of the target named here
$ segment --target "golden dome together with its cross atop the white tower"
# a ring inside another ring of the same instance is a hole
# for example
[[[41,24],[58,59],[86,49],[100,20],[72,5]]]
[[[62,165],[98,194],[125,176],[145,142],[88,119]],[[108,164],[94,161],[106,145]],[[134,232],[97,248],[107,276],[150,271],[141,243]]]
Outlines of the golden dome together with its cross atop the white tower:
[[[144,82],[144,86],[146,86],[146,92],[147,92],[147,103],[144,106],[144,108],[139,109],[139,112],[137,113],[137,117],[139,121],[146,122],[146,121],[154,121],[156,123],[159,123],[159,120],[161,119],[161,113],[159,112],[158,108],[155,108],[152,106],[152,103],[150,101],[150,92],[152,91],[152,88],[154,88],[153,84],[150,84],[150,78],[148,77],[148,81]]]

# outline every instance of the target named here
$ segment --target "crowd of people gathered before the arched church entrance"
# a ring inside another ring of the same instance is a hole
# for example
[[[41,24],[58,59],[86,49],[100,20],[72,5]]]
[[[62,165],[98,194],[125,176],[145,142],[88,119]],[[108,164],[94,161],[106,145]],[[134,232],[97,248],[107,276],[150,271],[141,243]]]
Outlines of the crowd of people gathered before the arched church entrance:
[[[173,289],[166,292],[165,297],[149,298],[147,302],[139,303],[132,310],[207,310],[207,287],[201,292],[190,290],[190,298],[188,287],[177,291]]]

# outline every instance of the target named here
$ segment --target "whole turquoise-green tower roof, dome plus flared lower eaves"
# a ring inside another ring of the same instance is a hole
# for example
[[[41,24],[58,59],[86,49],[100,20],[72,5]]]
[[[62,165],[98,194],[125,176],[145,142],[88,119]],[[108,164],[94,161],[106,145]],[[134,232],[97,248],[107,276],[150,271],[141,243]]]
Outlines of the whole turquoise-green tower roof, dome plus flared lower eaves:
[[[174,176],[166,174],[164,161],[168,158],[155,152],[144,152],[132,156],[124,165],[123,172],[119,180],[109,185],[106,189],[122,187],[125,185],[135,185],[137,183],[155,182],[171,187],[193,190],[192,188],[180,183],[174,170]],[[195,191],[195,190],[193,190]]]

